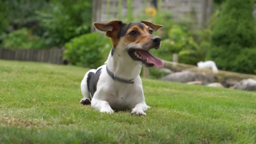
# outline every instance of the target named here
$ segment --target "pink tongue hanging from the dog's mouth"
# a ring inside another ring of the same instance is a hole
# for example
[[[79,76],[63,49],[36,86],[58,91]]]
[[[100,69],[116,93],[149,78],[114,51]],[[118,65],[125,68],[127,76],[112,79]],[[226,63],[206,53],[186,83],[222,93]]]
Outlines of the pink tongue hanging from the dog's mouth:
[[[155,64],[156,67],[163,67],[163,61],[156,56],[152,56],[147,51],[137,51],[137,53],[139,53],[139,55],[141,55],[143,59],[146,59],[146,60],[149,59],[148,62],[150,64]]]

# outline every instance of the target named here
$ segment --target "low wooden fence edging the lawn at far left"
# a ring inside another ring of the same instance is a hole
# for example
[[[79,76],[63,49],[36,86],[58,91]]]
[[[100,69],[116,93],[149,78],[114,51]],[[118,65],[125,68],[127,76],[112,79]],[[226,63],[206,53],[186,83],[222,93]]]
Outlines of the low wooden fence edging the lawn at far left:
[[[0,48],[0,59],[15,61],[41,61],[52,64],[63,64],[63,49],[52,48],[48,50],[21,49],[9,50]]]

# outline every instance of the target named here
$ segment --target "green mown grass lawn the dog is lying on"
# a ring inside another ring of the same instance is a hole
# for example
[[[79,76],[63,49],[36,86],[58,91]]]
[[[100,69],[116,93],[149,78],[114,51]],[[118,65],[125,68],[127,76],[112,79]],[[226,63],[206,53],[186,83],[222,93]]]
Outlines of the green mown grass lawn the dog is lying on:
[[[146,117],[79,104],[88,69],[0,60],[0,143],[256,143],[256,93],[143,79]]]

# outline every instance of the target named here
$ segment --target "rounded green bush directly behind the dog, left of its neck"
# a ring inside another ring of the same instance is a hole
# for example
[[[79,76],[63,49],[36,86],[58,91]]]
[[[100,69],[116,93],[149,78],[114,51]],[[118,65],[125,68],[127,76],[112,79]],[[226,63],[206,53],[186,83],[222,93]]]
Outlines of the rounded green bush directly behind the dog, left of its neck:
[[[107,60],[111,47],[111,40],[103,34],[81,35],[65,44],[64,59],[76,66],[97,68]]]

